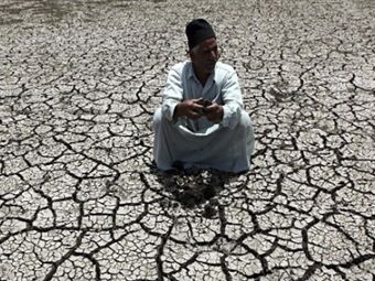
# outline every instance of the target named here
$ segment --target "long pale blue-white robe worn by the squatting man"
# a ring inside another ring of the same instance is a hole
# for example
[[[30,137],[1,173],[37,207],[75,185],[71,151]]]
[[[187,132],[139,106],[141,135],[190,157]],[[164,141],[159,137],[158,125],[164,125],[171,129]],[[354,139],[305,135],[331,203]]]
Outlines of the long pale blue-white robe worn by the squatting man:
[[[173,118],[175,106],[185,99],[204,98],[223,105],[221,123],[204,116],[197,120]],[[249,116],[243,110],[238,78],[232,66],[216,63],[204,87],[190,61],[176,64],[169,73],[163,101],[153,116],[153,155],[161,170],[175,161],[185,167],[212,167],[226,172],[249,169],[254,132]]]

